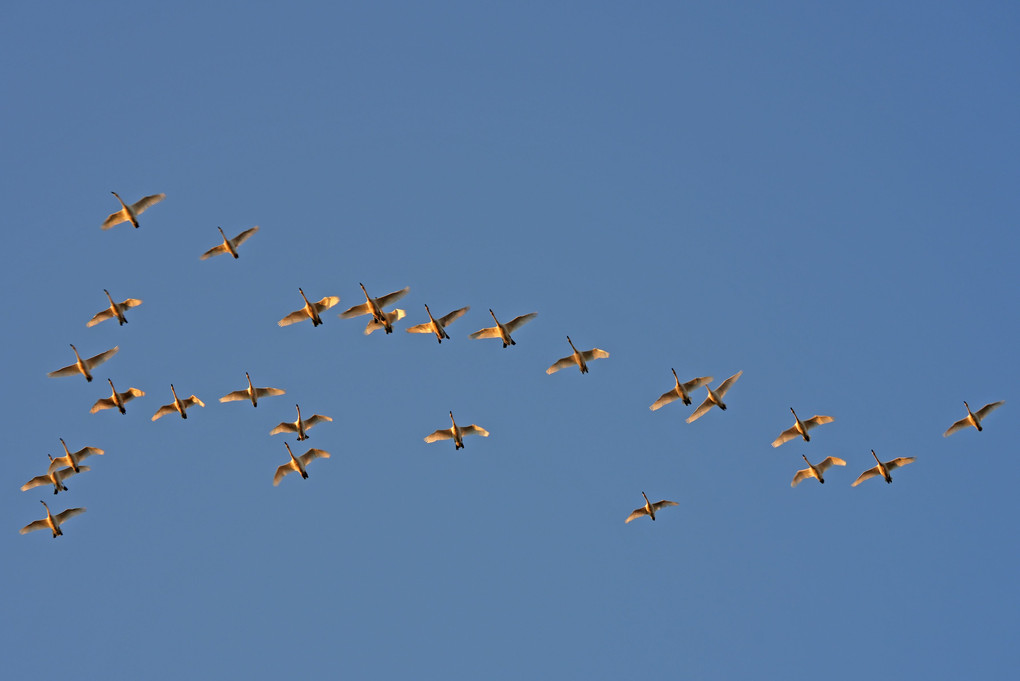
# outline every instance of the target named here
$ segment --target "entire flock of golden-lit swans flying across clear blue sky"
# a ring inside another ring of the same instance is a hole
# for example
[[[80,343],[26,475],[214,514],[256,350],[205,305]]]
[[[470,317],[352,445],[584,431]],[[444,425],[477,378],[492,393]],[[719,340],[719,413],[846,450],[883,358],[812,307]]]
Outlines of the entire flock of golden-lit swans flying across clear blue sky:
[[[102,223],[103,229],[109,229],[117,224],[124,222],[130,222],[136,228],[139,226],[138,216],[141,215],[148,208],[158,204],[160,201],[166,198],[165,194],[155,194],[152,196],[147,196],[133,204],[125,204],[120,197],[113,192],[114,197],[120,203],[120,209],[114,213],[111,213]],[[205,253],[203,253],[200,258],[206,260],[216,255],[230,254],[234,258],[239,258],[238,248],[248,241],[253,234],[258,231],[258,227],[251,227],[242,231],[237,237],[231,239],[223,232],[219,227],[220,237],[222,238],[222,243],[218,244]],[[378,298],[372,298],[368,291],[363,284],[361,285],[361,291],[364,293],[365,302],[359,305],[355,305],[344,312],[340,313],[340,317],[343,319],[350,319],[359,316],[370,316],[367,325],[365,326],[364,333],[366,335],[376,331],[378,329],[385,329],[387,333],[392,333],[394,330],[394,323],[400,321],[406,316],[406,311],[401,309],[387,310],[400,299],[407,295],[410,287],[405,287],[400,291],[395,291],[386,296],[379,296]],[[96,313],[87,323],[87,326],[92,327],[103,321],[110,319],[116,319],[119,325],[128,323],[125,312],[132,308],[138,307],[142,304],[142,301],[135,298],[129,298],[128,300],[117,303],[113,300],[109,291],[103,290],[106,294],[106,298],[109,301],[109,306],[104,310]],[[302,301],[304,305],[291,312],[290,314],[283,317],[277,324],[279,326],[288,326],[298,322],[310,320],[313,326],[318,326],[322,324],[321,314],[326,310],[332,309],[340,303],[340,298],[337,296],[326,296],[319,300],[318,302],[311,302],[305,296],[305,292],[302,289],[298,289],[301,294]],[[425,305],[425,312],[428,315],[428,321],[414,326],[410,326],[406,329],[408,333],[431,333],[436,335],[436,339],[442,344],[443,340],[449,339],[450,335],[447,333],[447,327],[460,319],[464,314],[468,312],[469,307],[462,307],[439,318],[436,318],[431,310]],[[489,310],[490,315],[493,317],[495,326],[487,326],[481,328],[469,335],[471,338],[499,338],[504,348],[509,346],[517,345],[513,339],[511,333],[516,331],[518,328],[526,324],[527,322],[534,319],[538,313],[531,312],[528,314],[520,315],[514,317],[510,321],[503,323],[497,317],[496,313],[492,309]],[[556,362],[554,362],[548,369],[546,369],[547,374],[553,374],[561,369],[567,367],[576,366],[580,373],[584,374],[589,372],[589,363],[598,360],[605,359],[609,357],[609,353],[605,350],[599,348],[594,348],[592,350],[579,351],[574,346],[573,340],[570,336],[567,336],[567,343],[570,345],[570,350],[572,351],[570,355],[563,357]],[[68,364],[67,366],[61,367],[54,371],[49,372],[50,377],[59,376],[74,376],[83,375],[86,381],[92,382],[93,371],[99,365],[103,364],[111,357],[113,357],[119,350],[119,346],[106,350],[98,355],[89,358],[83,358],[73,345],[70,346],[71,351],[74,353],[74,362]],[[676,370],[672,370],[673,379],[675,384],[672,388],[662,394],[658,400],[656,400],[650,407],[652,411],[657,411],[658,409],[671,404],[677,400],[681,401],[684,405],[690,406],[693,404],[692,392],[695,390],[705,387],[707,390],[707,396],[704,401],[698,406],[697,409],[687,417],[687,423],[693,423],[694,421],[705,416],[713,407],[718,407],[720,410],[725,411],[726,404],[723,402],[723,398],[732,388],[733,384],[740,379],[743,371],[737,371],[732,376],[726,378],[714,389],[710,386],[713,380],[712,376],[701,376],[698,378],[693,378],[687,381],[680,381],[679,376],[676,374]],[[234,390],[219,398],[219,402],[238,402],[246,401],[251,402],[252,407],[258,407],[258,401],[263,398],[277,397],[285,395],[285,390],[276,387],[255,387],[252,383],[251,376],[245,372],[245,378],[247,379],[247,387],[239,390]],[[125,405],[128,402],[145,396],[145,392],[137,387],[129,387],[124,391],[118,391],[113,385],[113,381],[107,378],[107,382],[110,385],[111,395],[109,398],[102,398],[97,400],[92,406],[91,413],[95,414],[99,411],[106,409],[117,409],[121,414],[126,413]],[[173,401],[169,404],[161,406],[156,410],[155,414],[152,416],[152,420],[156,421],[163,416],[168,414],[176,413],[182,419],[188,418],[188,410],[193,407],[205,407],[205,403],[202,402],[198,397],[192,395],[187,399],[181,399],[177,396],[176,389],[173,384],[170,384],[170,392],[173,396]],[[958,432],[967,427],[974,427],[977,430],[982,430],[981,425],[982,420],[988,416],[992,411],[1001,407],[1005,402],[992,402],[985,405],[984,407],[978,409],[977,411],[971,411],[970,406],[964,402],[964,407],[967,410],[967,415],[951,425],[949,429],[946,430],[944,436],[948,437],[955,432]],[[297,408],[297,419],[293,422],[285,421],[279,423],[276,427],[270,430],[270,435],[275,435],[278,433],[294,433],[297,435],[299,441],[308,439],[307,431],[311,427],[318,423],[333,421],[328,416],[323,416],[321,414],[314,414],[307,419],[301,416],[301,406],[296,405]],[[794,415],[794,425],[789,428],[783,430],[779,433],[779,436],[775,438],[772,442],[773,448],[780,447],[785,442],[788,442],[798,437],[804,439],[804,441],[810,441],[811,435],[809,431],[826,423],[831,423],[833,418],[831,416],[820,416],[815,415],[809,419],[802,420],[797,412],[790,408],[790,413]],[[440,440],[452,439],[454,440],[455,450],[463,449],[464,447],[464,436],[465,435],[480,435],[482,437],[489,436],[489,431],[484,428],[471,424],[467,426],[460,426],[457,424],[454,418],[453,412],[450,412],[450,421],[452,427],[450,428],[440,428],[436,431],[429,433],[425,436],[425,442],[436,442]],[[54,458],[51,455],[49,457],[50,463],[47,468],[46,473],[38,475],[31,480],[29,480],[24,485],[21,486],[22,491],[34,489],[43,485],[52,485],[53,493],[57,494],[60,491],[66,491],[67,486],[64,484],[64,480],[76,475],[79,473],[88,472],[91,470],[89,466],[82,465],[82,462],[92,456],[104,454],[103,450],[94,447],[85,447],[76,452],[71,452],[67,447],[67,443],[60,438],[60,443],[63,447],[64,455],[61,457]],[[284,442],[287,448],[289,455],[289,460],[280,465],[272,478],[273,485],[278,485],[280,481],[290,473],[300,473],[302,478],[308,477],[308,465],[316,459],[328,459],[329,453],[324,450],[319,449],[309,449],[304,454],[297,456],[291,450],[289,442]],[[892,459],[890,461],[881,461],[878,455],[875,454],[874,450],[871,451],[872,457],[875,459],[876,465],[872,468],[861,473],[857,479],[852,483],[852,486],[857,486],[861,482],[868,480],[873,477],[881,476],[886,483],[892,482],[892,476],[890,472],[911,464],[915,461],[914,457],[900,457]],[[846,466],[847,462],[837,457],[827,457],[820,463],[812,464],[810,460],[804,455],[801,455],[805,463],[808,465],[807,468],[797,471],[794,475],[794,479],[790,482],[790,486],[796,487],[798,484],[803,482],[808,478],[815,478],[819,483],[824,483],[824,473],[832,466]],[[652,503],[648,495],[642,491],[642,496],[645,499],[645,504],[638,509],[634,509],[630,515],[625,519],[625,523],[629,523],[635,518],[641,518],[643,516],[649,516],[652,520],[655,520],[656,512],[662,510],[663,508],[670,506],[677,506],[676,502],[662,500],[659,502]],[[40,500],[42,501],[42,500]],[[53,537],[60,536],[63,534],[61,530],[61,525],[78,516],[85,513],[85,508],[70,508],[66,509],[57,514],[53,514],[50,511],[49,506],[47,506],[45,501],[42,501],[43,507],[46,509],[46,517],[40,520],[33,521],[21,528],[21,534],[32,532],[34,530],[40,530],[44,528],[50,529]]]

